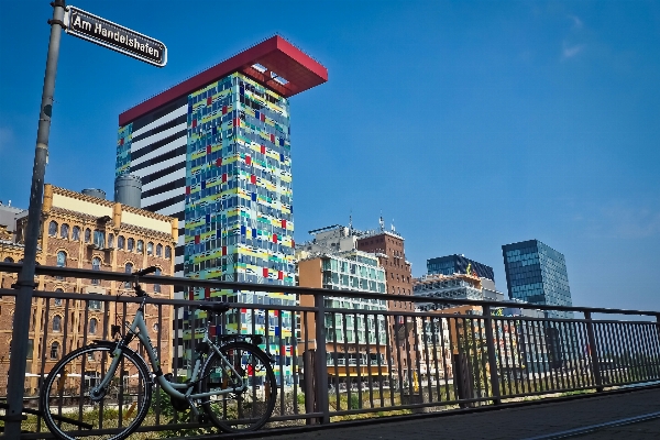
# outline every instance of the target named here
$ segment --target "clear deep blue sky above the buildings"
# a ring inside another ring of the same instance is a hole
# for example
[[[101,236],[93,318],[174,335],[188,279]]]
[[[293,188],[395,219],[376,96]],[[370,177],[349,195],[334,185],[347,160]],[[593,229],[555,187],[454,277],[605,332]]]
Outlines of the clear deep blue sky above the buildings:
[[[0,200],[28,207],[48,0],[2,1]],[[296,240],[377,227],[413,274],[538,239],[573,302],[660,309],[660,3],[90,1],[165,68],[63,35],[46,182],[111,197],[118,116],[280,34],[329,70],[292,98]]]

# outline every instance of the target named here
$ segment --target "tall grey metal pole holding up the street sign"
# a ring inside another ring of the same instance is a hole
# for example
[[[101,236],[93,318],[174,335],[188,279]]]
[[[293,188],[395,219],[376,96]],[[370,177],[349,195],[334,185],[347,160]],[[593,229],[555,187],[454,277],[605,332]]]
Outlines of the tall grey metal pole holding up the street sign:
[[[51,24],[51,42],[46,59],[46,73],[38,116],[38,130],[36,132],[36,148],[34,153],[34,167],[32,169],[32,187],[30,190],[30,208],[28,211],[28,227],[25,230],[25,249],[23,267],[19,274],[20,292],[16,295],[11,351],[9,364],[9,384],[7,393],[7,411],[4,436],[18,439],[21,436],[21,420],[23,413],[23,386],[28,355],[28,331],[30,328],[30,312],[32,310],[32,296],[34,294],[34,268],[36,265],[36,245],[41,229],[42,198],[44,195],[44,176],[48,158],[48,134],[51,132],[51,116],[53,114],[53,94],[55,92],[55,76],[57,74],[57,57],[59,55],[59,38],[64,26],[65,1],[54,0],[53,20]],[[42,250],[46,252],[46,250]],[[45,341],[44,341],[45,343]]]

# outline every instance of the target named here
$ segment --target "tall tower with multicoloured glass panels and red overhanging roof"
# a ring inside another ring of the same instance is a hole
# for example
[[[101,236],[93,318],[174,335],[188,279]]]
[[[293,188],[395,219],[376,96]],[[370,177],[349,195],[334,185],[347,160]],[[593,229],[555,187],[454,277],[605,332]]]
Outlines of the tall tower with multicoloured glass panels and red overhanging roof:
[[[142,208],[180,220],[177,276],[294,285],[288,99],[327,79],[323,66],[273,36],[120,114],[117,175],[141,177]],[[290,326],[280,337],[290,343]]]

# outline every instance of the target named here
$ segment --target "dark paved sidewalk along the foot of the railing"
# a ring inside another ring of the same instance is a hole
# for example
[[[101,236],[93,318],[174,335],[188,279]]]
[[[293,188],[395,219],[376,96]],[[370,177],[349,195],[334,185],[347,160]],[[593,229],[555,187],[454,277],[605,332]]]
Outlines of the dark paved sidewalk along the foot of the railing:
[[[637,391],[408,421],[383,421],[353,428],[327,428],[286,435],[286,440],[415,440],[415,439],[527,439],[660,411],[660,389]],[[276,437],[261,437],[274,439]],[[613,427],[576,439],[660,439],[660,419]]]

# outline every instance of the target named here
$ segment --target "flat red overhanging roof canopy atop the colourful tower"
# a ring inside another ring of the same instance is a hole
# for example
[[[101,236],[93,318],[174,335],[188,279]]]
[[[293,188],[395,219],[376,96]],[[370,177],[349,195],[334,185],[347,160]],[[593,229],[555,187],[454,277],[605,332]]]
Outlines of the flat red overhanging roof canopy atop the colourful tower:
[[[263,73],[257,70],[253,67],[255,64],[265,67],[267,70]],[[189,95],[235,72],[251,77],[285,98],[328,80],[328,69],[326,67],[282,36],[275,35],[124,111],[119,116],[119,125],[125,125],[176,98]],[[271,72],[276,74],[277,77],[286,79],[287,82],[277,81],[272,77]]]

